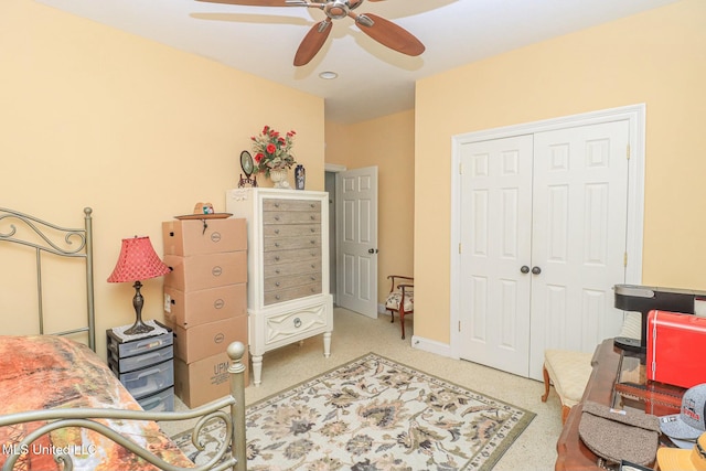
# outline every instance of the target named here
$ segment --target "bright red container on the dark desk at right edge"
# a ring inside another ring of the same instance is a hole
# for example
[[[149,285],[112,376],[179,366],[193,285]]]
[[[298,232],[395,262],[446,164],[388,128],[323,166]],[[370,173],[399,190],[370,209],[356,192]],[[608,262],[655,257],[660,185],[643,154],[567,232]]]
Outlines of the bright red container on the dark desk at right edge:
[[[668,311],[648,314],[648,379],[689,388],[706,383],[706,318]]]

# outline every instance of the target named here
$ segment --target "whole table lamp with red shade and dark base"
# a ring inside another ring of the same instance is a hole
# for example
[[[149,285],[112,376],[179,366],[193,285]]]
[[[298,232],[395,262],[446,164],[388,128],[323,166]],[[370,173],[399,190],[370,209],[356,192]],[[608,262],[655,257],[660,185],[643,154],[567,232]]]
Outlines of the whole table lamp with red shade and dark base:
[[[151,325],[142,323],[142,304],[145,303],[145,299],[142,298],[142,293],[140,293],[140,288],[142,288],[140,280],[161,277],[169,271],[170,268],[164,265],[154,253],[149,237],[135,236],[133,238],[122,239],[118,263],[113,274],[108,277],[108,282],[135,281],[135,285],[132,285],[135,288],[132,306],[135,307],[137,320],[131,328],[125,331],[127,335],[146,333],[154,329]]]

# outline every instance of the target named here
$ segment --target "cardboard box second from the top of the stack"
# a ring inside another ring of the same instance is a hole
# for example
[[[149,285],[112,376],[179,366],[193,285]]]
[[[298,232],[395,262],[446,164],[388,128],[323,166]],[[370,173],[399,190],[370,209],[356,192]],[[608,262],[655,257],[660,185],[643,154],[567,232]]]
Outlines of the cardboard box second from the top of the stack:
[[[189,292],[247,282],[247,251],[181,257],[165,255],[172,271],[164,275],[164,286]]]

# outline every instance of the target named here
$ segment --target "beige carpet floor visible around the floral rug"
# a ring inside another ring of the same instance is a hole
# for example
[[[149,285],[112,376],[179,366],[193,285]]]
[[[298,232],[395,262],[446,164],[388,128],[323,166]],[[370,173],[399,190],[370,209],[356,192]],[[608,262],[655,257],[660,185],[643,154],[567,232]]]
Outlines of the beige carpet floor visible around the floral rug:
[[[320,336],[265,354],[263,385],[250,385],[246,388],[246,403],[248,406],[255,404],[373,351],[421,372],[535,413],[534,420],[493,470],[554,469],[556,440],[561,431],[560,405],[554,393],[549,395],[547,403],[542,403],[544,386],[539,382],[413,349],[409,340],[414,329],[413,319],[407,320],[406,327],[407,340],[400,340],[398,320],[391,323],[389,317],[386,315],[373,320],[336,308],[331,357],[323,357]],[[184,406],[178,402],[178,408],[183,409]],[[170,436],[178,435],[189,427],[189,424],[162,424],[162,428]]]

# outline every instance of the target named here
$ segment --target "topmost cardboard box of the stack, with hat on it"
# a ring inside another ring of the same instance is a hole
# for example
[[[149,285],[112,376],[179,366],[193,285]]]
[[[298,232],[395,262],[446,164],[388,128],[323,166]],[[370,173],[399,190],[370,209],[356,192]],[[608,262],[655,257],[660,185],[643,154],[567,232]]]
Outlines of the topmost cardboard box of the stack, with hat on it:
[[[162,240],[165,255],[247,250],[246,220],[169,221],[162,223]]]

